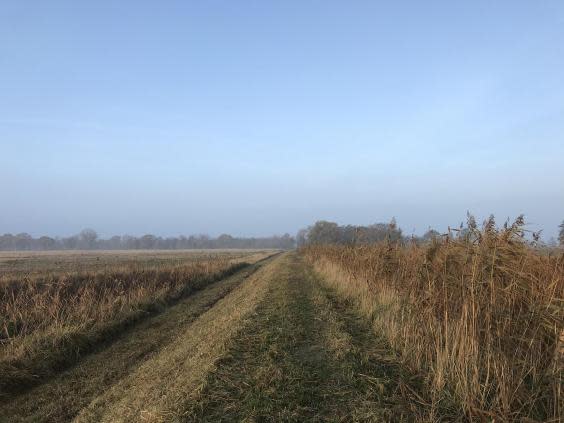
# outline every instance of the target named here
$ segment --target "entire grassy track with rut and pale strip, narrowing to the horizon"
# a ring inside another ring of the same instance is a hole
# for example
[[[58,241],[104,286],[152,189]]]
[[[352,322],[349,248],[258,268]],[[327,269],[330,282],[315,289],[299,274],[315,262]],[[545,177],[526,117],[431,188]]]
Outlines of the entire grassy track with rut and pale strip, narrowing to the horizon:
[[[255,264],[0,404],[6,422],[410,421],[419,383],[296,253]]]

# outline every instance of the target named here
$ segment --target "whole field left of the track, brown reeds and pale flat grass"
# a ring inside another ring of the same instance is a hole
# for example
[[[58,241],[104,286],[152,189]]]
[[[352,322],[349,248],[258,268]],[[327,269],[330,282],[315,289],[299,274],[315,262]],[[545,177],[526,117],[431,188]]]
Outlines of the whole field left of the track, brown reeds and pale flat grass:
[[[127,326],[268,254],[4,255],[0,396],[39,382]]]

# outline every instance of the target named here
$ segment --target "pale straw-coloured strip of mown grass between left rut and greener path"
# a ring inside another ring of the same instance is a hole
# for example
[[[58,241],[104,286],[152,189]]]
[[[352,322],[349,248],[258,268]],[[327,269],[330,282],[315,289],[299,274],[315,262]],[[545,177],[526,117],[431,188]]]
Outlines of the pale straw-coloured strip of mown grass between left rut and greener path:
[[[222,357],[284,265],[273,257],[245,270],[246,278],[190,324],[182,324],[174,342],[91,401],[75,422],[180,422],[184,409],[206,375]],[[224,284],[224,281],[221,282]],[[196,294],[198,295],[198,294]],[[190,420],[188,420],[190,421]]]

